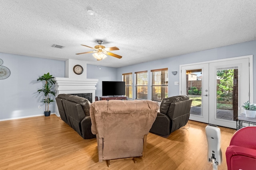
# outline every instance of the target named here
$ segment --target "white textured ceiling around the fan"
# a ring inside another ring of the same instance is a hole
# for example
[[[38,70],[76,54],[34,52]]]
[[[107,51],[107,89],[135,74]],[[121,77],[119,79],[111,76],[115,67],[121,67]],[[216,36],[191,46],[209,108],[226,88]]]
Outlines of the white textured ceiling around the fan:
[[[122,59],[75,55],[97,39]],[[256,0],[0,0],[2,53],[121,67],[252,40]]]

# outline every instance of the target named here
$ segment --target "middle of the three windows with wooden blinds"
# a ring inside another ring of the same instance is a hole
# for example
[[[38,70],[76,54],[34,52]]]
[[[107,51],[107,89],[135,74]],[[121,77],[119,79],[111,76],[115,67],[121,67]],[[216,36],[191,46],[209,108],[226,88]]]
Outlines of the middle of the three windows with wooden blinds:
[[[148,71],[135,72],[135,76],[135,98],[144,100],[148,99]]]

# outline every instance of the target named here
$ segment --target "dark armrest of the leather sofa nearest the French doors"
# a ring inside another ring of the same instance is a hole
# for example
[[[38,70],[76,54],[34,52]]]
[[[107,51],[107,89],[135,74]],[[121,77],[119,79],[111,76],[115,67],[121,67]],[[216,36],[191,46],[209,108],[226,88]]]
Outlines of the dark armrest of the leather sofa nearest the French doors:
[[[158,112],[150,132],[159,135],[170,135],[170,127],[172,127],[172,121],[168,115]]]

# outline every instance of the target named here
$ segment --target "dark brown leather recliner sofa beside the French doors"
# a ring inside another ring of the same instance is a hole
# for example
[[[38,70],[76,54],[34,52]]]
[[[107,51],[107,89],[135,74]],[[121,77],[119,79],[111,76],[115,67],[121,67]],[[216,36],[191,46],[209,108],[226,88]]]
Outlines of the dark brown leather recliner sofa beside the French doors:
[[[185,126],[190,116],[191,103],[188,96],[164,98],[150,132],[166,136]]]

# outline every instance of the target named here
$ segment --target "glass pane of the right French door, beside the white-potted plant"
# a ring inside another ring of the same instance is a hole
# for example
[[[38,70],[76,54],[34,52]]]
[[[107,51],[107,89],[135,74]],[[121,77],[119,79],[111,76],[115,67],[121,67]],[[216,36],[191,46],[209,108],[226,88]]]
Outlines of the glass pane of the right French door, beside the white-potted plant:
[[[216,118],[236,121],[238,116],[238,68],[217,69],[216,81]]]

